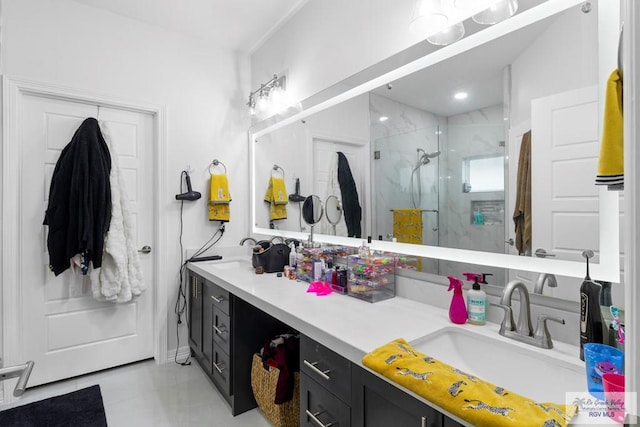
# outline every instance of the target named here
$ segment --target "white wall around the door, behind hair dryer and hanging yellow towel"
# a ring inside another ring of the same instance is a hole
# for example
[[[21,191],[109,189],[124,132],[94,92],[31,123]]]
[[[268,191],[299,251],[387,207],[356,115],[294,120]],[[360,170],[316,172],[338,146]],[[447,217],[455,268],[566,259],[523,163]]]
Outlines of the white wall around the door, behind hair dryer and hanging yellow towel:
[[[204,46],[159,28],[91,9],[70,0],[2,0],[2,74],[166,106],[166,194],[157,212],[167,242],[155,286],[169,294],[169,349],[176,346],[173,303],[179,268],[180,171],[193,170],[194,189],[206,194],[208,164],[229,173],[231,222],[220,245],[237,245],[248,233],[248,113],[246,55]],[[204,199],[185,204],[186,248],[200,247],[214,231]],[[11,284],[4,284],[8,286]],[[187,345],[186,326],[180,345]]]

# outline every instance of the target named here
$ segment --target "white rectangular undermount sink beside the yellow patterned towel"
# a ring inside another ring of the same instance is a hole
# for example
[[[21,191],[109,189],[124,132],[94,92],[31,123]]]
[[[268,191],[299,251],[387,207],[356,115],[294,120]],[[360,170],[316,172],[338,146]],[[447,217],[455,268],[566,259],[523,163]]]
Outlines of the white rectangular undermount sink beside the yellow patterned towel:
[[[549,350],[454,327],[410,344],[427,356],[537,402],[565,403],[566,392],[587,389],[584,366],[543,353]]]

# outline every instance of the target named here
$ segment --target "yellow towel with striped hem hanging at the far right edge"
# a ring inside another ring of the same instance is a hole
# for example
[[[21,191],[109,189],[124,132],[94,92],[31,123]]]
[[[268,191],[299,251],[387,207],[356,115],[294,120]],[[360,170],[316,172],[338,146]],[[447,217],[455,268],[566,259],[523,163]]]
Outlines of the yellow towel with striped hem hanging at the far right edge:
[[[607,81],[604,104],[602,144],[598,159],[596,185],[623,189],[624,185],[624,121],[622,115],[622,79],[615,69]]]

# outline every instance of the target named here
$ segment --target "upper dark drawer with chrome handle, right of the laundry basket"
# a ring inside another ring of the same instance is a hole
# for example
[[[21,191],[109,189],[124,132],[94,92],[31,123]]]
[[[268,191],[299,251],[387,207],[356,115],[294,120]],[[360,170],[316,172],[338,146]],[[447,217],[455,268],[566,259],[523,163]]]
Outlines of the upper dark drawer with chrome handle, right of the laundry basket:
[[[342,401],[351,402],[351,362],[302,335],[300,369]]]

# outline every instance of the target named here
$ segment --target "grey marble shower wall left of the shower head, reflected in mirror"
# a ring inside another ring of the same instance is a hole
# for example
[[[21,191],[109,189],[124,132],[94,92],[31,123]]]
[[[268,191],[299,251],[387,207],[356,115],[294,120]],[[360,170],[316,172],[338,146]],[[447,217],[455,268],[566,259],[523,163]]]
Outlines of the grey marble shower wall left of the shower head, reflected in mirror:
[[[442,138],[438,130],[446,123],[446,119],[376,94],[370,95],[370,114],[373,150],[379,154],[373,166],[376,177],[373,188],[375,237],[382,235],[386,239],[393,234],[393,209],[413,208],[414,202],[415,207],[421,209],[438,209],[441,157],[419,168],[420,200],[418,173],[413,173],[413,170],[418,159],[418,148],[426,152],[440,150]],[[422,219],[422,241],[438,245],[437,215],[424,212]],[[437,261],[425,260],[423,269],[436,272]]]

